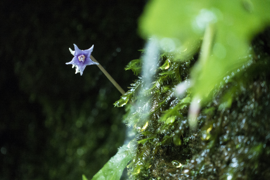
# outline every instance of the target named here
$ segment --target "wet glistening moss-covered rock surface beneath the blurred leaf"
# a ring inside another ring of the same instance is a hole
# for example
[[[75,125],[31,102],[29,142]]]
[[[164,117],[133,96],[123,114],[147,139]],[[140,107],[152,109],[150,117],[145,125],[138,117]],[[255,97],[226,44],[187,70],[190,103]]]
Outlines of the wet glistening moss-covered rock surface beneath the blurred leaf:
[[[188,123],[191,93],[177,98],[174,90],[189,78],[198,53],[184,62],[160,56],[152,88],[142,90],[145,101],[127,105],[132,113],[125,122],[137,131],[130,179],[270,179],[269,32],[254,38],[249,61],[225,76],[202,106],[196,130]],[[122,99],[136,103],[140,95],[133,92],[143,89],[143,80]]]

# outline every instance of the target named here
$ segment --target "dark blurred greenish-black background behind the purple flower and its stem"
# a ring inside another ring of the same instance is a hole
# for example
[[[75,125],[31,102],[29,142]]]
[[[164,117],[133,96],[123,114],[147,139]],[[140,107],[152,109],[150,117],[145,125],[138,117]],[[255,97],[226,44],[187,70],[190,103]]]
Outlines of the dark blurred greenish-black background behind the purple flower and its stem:
[[[0,179],[88,179],[123,145],[121,94],[95,65],[66,65],[73,43],[127,91],[145,1],[0,1]]]

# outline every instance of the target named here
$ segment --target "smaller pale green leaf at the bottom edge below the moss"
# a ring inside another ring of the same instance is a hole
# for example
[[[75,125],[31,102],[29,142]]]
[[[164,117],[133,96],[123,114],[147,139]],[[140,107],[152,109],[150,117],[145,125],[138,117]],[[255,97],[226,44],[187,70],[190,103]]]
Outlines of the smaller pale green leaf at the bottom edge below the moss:
[[[119,180],[127,163],[131,160],[131,155],[127,152],[127,145],[123,145],[119,151],[97,172],[92,180]]]

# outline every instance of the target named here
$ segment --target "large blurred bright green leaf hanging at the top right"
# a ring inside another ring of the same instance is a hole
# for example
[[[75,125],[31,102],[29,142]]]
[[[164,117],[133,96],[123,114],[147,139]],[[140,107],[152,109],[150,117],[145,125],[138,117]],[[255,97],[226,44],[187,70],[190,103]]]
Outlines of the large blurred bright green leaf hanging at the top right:
[[[161,42],[177,39],[180,46],[175,51],[184,60],[183,54],[197,47],[212,24],[208,56],[191,73],[193,93],[207,100],[227,73],[247,62],[252,38],[270,24],[269,9],[269,0],[153,0],[139,20],[139,31],[142,37],[155,35]]]

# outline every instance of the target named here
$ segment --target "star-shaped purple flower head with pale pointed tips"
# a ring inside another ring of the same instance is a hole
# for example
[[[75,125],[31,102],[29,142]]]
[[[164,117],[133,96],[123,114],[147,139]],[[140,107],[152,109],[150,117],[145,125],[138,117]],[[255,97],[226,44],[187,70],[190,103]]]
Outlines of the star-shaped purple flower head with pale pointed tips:
[[[73,57],[72,61],[70,61],[66,64],[72,64],[72,68],[76,67],[75,74],[80,73],[82,76],[83,70],[85,69],[85,67],[87,65],[99,64],[99,63],[92,61],[92,59],[90,59],[90,55],[91,55],[91,52],[93,51],[94,45],[87,50],[80,50],[76,46],[76,44],[73,44],[73,45],[74,45],[75,51],[71,50],[70,48],[69,48],[69,50],[74,57]]]

